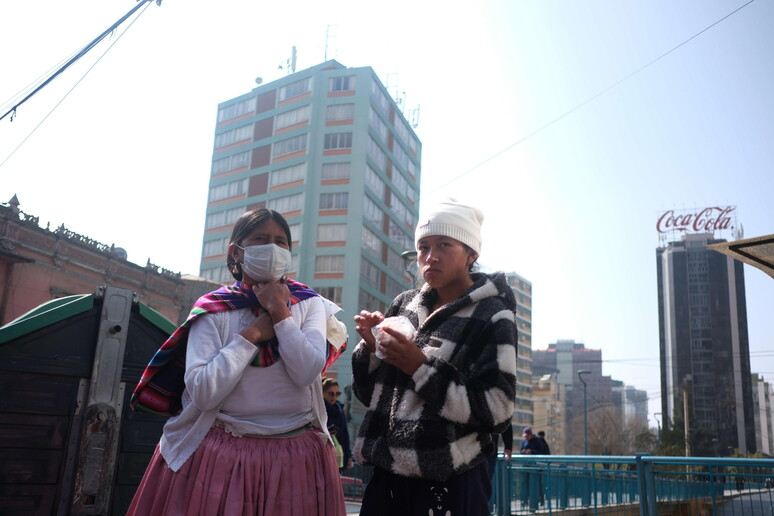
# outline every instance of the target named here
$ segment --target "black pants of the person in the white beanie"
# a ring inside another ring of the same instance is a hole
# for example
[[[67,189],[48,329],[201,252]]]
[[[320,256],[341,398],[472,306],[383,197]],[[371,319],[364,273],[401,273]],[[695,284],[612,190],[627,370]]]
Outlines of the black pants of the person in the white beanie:
[[[374,468],[360,516],[489,516],[492,481],[486,461],[436,482]]]

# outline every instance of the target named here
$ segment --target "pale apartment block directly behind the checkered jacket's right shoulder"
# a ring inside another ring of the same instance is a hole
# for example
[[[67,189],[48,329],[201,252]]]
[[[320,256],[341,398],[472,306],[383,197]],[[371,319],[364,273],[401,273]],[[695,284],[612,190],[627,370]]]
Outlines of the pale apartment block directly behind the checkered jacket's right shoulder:
[[[516,296],[516,326],[519,330],[516,364],[516,410],[514,431],[533,423],[532,410],[532,283],[515,272],[506,274]]]

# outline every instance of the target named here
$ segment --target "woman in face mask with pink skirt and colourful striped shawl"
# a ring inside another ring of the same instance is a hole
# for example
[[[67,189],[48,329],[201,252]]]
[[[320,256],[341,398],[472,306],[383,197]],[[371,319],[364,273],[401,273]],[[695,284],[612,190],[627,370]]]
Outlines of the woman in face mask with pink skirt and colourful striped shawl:
[[[128,514],[345,514],[321,389],[325,302],[284,276],[290,246],[279,213],[242,215],[226,260],[236,283],[197,301],[146,369],[132,406],[173,417]]]

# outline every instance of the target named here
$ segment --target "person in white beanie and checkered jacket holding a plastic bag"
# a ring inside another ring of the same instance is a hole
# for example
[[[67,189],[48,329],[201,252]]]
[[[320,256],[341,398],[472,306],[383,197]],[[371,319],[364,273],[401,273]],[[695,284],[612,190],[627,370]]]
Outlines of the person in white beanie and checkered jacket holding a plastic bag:
[[[422,288],[355,316],[353,388],[368,410],[354,453],[374,466],[361,515],[489,514],[486,459],[514,410],[517,330],[505,276],[472,272],[483,219],[441,203],[415,234]],[[377,344],[373,328],[395,316],[414,337],[382,325]]]

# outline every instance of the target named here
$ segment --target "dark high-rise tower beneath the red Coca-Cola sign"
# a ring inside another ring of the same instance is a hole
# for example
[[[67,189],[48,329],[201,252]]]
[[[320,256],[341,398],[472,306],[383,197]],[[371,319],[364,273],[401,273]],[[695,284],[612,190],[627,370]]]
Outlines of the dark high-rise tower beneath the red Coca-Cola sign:
[[[685,421],[694,453],[754,452],[743,264],[707,249],[712,233],[656,250],[664,428]],[[701,449],[703,447],[703,449]]]

